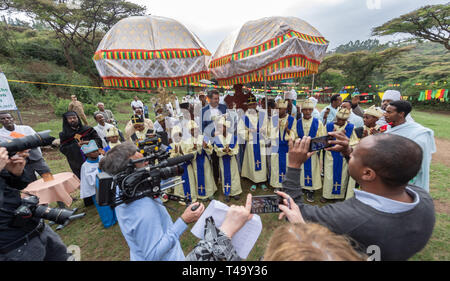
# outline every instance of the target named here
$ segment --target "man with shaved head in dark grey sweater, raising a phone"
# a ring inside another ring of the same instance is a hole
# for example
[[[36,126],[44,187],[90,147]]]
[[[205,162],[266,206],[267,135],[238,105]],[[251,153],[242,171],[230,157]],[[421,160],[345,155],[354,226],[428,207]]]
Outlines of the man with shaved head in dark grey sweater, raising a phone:
[[[327,150],[346,157],[349,174],[361,190],[355,190],[351,199],[323,207],[303,204],[299,174],[302,163],[312,154],[311,139],[291,141],[283,182],[290,196],[278,194],[285,198],[285,205],[292,198],[298,205],[280,205],[280,218],[322,224],[336,234],[350,236],[364,252],[378,247],[381,260],[407,260],[422,250],[435,223],[433,200],[422,188],[408,184],[421,167],[422,149],[407,138],[378,134],[362,139],[352,151],[342,132],[329,135],[336,139]]]

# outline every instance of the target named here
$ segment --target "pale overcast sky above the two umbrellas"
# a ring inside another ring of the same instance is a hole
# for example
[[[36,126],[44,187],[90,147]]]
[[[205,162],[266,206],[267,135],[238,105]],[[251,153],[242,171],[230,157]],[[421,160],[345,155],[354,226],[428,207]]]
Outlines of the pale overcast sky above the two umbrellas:
[[[370,38],[372,28],[435,0],[128,0],[152,15],[183,23],[214,53],[220,42],[249,20],[295,16],[314,26],[330,41],[328,50],[350,40]],[[379,38],[384,42],[394,38]]]

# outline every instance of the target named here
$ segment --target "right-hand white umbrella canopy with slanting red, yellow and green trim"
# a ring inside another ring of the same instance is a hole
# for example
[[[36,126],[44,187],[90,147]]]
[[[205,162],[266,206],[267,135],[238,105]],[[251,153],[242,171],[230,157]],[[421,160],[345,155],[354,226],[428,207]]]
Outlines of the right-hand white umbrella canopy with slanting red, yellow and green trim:
[[[296,17],[245,23],[219,45],[209,68],[219,85],[303,77],[317,73],[328,41]]]

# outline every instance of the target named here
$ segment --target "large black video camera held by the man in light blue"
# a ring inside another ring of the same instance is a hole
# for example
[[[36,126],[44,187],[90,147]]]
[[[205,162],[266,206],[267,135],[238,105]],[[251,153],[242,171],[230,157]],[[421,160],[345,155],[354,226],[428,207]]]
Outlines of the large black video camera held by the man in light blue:
[[[164,155],[165,157],[165,155]],[[148,165],[144,168],[135,168],[135,164],[155,160],[155,155],[130,160],[125,171],[111,176],[102,172],[97,174],[98,192],[97,202],[100,206],[116,207],[122,203],[131,203],[143,197],[157,198],[167,196],[170,200],[190,203],[188,198],[165,194],[163,191],[183,182],[179,178],[169,180],[161,184],[161,180],[167,180],[183,174],[183,164],[194,158],[193,154],[161,159],[157,165]],[[116,193],[118,189],[119,193]]]

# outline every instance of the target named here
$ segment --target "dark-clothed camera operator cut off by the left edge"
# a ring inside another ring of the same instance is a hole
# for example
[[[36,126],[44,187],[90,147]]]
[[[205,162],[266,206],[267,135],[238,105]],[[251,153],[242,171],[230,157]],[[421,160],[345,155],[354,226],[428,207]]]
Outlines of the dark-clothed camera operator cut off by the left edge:
[[[28,152],[11,158],[0,147],[0,261],[65,261],[70,257],[61,238],[43,219],[28,218],[12,226],[14,211],[22,204],[19,190],[31,180],[23,173]]]

